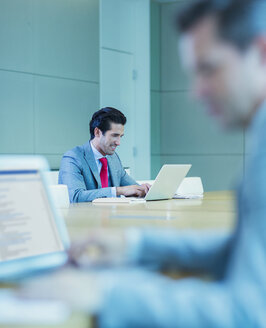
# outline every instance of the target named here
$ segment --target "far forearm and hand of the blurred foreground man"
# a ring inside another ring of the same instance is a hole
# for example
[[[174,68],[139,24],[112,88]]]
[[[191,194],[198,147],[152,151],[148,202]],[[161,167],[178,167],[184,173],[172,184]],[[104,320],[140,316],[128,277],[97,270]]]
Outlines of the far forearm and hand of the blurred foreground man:
[[[221,278],[232,250],[233,236],[219,231],[95,230],[73,242],[70,259],[81,266],[131,263],[162,270],[208,273]],[[97,258],[90,249],[99,248]]]

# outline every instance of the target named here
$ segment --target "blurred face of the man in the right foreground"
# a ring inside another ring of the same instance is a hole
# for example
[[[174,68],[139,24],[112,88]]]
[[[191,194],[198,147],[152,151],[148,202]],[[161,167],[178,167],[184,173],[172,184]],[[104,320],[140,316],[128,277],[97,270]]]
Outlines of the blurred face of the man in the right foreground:
[[[184,35],[184,66],[192,73],[195,95],[224,127],[245,126],[258,105],[262,70],[258,51],[241,52],[217,35],[214,17],[203,19]]]

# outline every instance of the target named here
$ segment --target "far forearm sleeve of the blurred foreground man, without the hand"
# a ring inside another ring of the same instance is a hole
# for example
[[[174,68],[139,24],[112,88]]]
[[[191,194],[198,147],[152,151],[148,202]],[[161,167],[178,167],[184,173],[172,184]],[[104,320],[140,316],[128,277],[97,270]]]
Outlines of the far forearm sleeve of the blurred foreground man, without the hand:
[[[219,231],[132,231],[129,256],[140,264],[198,271],[221,276],[232,248],[233,236]]]

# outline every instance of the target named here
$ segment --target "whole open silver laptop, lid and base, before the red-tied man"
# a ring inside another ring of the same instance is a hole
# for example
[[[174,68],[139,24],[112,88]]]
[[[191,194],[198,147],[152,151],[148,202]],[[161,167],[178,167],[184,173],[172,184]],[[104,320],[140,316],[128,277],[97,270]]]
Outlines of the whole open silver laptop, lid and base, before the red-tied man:
[[[94,204],[101,203],[134,203],[149,200],[171,199],[174,197],[177,188],[187,175],[191,164],[165,164],[159,171],[150,190],[144,198],[137,197],[117,197],[117,198],[97,198]]]

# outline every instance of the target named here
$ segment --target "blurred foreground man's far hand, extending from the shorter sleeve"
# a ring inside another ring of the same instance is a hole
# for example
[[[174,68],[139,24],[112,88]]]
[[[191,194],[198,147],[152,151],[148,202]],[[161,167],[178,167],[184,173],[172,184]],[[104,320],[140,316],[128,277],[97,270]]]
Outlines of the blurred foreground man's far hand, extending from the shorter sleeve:
[[[126,259],[126,237],[119,229],[91,231],[83,240],[73,241],[69,262],[78,267],[121,265]]]

